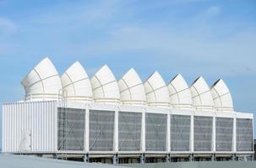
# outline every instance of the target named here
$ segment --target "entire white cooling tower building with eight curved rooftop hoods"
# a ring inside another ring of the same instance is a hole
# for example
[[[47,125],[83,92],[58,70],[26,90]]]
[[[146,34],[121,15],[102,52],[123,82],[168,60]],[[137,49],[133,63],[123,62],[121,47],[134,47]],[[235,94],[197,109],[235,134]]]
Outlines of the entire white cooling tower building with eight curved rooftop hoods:
[[[86,67],[85,67],[86,69]],[[236,112],[223,80],[181,75],[168,84],[108,66],[90,79],[79,62],[62,76],[48,58],[21,82],[23,101],[3,104],[3,153],[134,163],[238,160],[253,155],[253,114]]]

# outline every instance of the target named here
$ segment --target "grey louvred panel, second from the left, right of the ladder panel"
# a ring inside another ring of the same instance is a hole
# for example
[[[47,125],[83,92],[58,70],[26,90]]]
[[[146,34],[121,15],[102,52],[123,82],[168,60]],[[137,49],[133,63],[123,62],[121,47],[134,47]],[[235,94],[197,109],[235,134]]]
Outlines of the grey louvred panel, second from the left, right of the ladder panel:
[[[112,151],[115,112],[90,110],[90,150]]]

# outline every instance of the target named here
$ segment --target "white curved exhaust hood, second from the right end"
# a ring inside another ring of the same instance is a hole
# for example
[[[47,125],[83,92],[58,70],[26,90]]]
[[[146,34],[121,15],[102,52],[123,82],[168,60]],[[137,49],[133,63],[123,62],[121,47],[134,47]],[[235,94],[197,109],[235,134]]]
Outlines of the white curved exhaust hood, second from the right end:
[[[213,98],[204,78],[200,76],[190,87],[193,107],[195,109],[212,111],[214,107]]]

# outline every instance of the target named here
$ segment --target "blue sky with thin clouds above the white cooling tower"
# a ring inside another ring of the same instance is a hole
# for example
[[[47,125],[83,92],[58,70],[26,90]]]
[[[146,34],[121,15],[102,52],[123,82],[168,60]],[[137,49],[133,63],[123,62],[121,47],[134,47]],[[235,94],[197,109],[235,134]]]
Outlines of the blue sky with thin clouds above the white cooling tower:
[[[24,97],[46,56],[60,74],[79,60],[89,76],[107,64],[117,79],[131,67],[143,80],[221,77],[235,109],[256,113],[256,1],[0,0],[1,103]]]

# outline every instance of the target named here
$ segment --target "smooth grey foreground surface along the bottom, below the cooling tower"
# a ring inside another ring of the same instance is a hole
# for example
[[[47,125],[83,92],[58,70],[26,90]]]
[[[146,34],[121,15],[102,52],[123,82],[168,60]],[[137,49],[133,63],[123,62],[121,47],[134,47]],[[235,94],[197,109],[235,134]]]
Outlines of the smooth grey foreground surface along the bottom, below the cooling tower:
[[[255,161],[193,161],[172,163],[149,163],[131,165],[107,165],[78,161],[54,160],[25,155],[0,155],[0,167],[4,168],[255,168]]]

